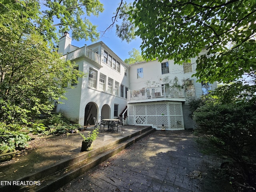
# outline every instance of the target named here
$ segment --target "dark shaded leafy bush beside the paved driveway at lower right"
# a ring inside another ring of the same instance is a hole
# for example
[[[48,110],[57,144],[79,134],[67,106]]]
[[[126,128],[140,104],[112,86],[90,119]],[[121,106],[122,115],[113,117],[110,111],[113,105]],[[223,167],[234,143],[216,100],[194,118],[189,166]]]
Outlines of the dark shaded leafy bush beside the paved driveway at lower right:
[[[195,133],[236,161],[246,182],[256,187],[251,172],[256,160],[255,104],[206,102],[194,111],[193,119]]]

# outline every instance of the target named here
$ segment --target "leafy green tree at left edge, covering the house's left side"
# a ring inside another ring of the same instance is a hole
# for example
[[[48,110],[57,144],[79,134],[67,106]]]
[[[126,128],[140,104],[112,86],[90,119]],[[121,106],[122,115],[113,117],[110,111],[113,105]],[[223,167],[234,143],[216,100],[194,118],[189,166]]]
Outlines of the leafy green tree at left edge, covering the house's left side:
[[[45,40],[52,26],[42,22],[38,2],[5,0],[0,7],[0,121],[27,122],[49,112],[64,98],[63,85],[83,74]]]

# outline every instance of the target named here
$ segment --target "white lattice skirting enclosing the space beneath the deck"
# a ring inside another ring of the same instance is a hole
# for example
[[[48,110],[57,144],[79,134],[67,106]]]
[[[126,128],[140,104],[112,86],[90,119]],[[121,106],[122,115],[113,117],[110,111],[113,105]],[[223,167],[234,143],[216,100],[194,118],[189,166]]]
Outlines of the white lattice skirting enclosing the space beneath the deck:
[[[161,130],[184,130],[182,102],[128,104],[129,125],[150,125]]]

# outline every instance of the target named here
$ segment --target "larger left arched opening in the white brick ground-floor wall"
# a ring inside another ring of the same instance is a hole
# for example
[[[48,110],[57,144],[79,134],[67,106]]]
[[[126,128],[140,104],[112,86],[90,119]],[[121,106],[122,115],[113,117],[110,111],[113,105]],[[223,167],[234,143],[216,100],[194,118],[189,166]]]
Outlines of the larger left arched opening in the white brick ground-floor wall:
[[[90,124],[94,125],[94,120],[93,118],[96,117],[97,119],[97,114],[98,114],[98,107],[94,102],[89,102],[84,109],[84,126]]]

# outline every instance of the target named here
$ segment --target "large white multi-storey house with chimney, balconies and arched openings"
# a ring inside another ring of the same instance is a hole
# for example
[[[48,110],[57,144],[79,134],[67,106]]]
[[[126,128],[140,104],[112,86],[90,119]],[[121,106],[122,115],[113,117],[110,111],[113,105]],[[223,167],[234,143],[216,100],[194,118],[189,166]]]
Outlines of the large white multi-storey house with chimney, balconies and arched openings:
[[[58,112],[81,126],[94,124],[93,117],[114,118],[127,111],[126,124],[156,129],[163,124],[166,130],[193,128],[188,99],[217,87],[191,78],[196,58],[183,66],[172,60],[127,65],[103,42],[72,46],[68,33],[60,38],[58,52],[87,73],[78,84],[70,85],[74,89],[67,88],[68,100],[57,106]]]

